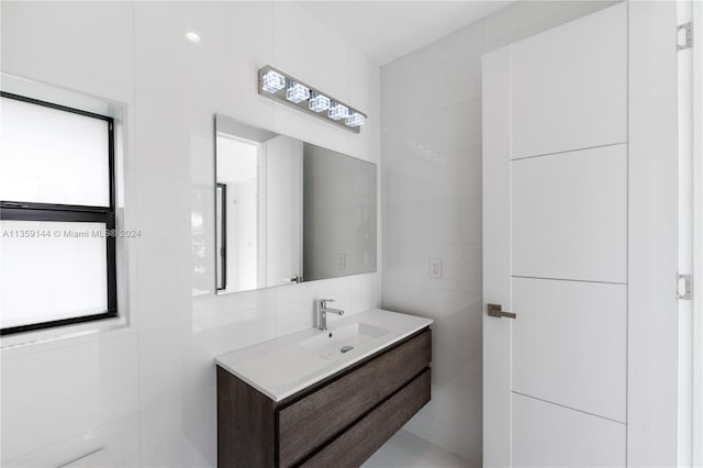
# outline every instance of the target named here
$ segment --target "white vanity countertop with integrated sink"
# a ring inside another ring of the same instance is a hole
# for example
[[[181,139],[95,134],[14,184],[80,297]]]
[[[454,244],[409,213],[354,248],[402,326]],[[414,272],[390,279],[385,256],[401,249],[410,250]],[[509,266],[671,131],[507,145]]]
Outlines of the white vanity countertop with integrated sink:
[[[371,309],[341,320],[328,321],[326,331],[303,330],[223,354],[215,357],[215,363],[271,400],[281,401],[432,323],[431,319]],[[341,328],[341,334],[352,333],[349,331],[355,325],[359,326],[357,324],[380,336],[364,336],[364,343],[354,342],[354,337],[350,337],[348,344],[353,344],[354,348],[346,353],[338,352],[336,347],[334,352],[324,352],[314,349],[315,345],[305,345],[311,342],[311,338],[324,345],[327,343],[326,338],[319,335],[334,335]]]

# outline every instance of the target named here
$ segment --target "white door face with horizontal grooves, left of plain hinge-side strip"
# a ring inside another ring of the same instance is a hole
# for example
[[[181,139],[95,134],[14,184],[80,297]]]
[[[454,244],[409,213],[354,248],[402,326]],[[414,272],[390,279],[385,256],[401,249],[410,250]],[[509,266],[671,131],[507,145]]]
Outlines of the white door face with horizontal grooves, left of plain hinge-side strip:
[[[483,460],[622,467],[627,5],[483,59]]]

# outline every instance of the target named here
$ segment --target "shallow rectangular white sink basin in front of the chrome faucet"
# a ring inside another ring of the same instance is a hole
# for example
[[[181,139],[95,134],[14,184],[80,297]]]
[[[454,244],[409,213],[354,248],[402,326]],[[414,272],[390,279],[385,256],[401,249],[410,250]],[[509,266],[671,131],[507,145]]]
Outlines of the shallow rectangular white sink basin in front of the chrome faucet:
[[[350,352],[357,346],[388,334],[389,331],[368,323],[357,322],[338,328],[326,330],[317,335],[299,342],[299,344],[325,357],[333,357]]]

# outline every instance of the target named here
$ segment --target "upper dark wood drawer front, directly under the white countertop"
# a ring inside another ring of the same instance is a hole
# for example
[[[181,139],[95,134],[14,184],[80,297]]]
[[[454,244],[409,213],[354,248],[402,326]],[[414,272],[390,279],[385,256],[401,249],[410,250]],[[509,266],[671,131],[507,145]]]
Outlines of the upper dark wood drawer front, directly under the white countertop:
[[[417,376],[431,359],[432,334],[425,330],[279,410],[278,465],[299,463]]]

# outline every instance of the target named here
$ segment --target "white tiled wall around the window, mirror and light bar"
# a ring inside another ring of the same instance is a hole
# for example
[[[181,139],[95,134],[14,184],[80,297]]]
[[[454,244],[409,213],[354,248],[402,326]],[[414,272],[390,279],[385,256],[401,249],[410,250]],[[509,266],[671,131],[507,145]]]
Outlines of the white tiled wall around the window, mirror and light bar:
[[[2,71],[125,104],[126,224],[142,230],[129,327],[2,353],[1,463],[107,447],[115,466],[215,466],[213,356],[312,326],[319,296],[378,305],[380,274],[215,297],[213,114],[379,163],[379,69],[286,2],[2,2],[1,15]],[[266,64],[368,124],[355,135],[263,99]]]

